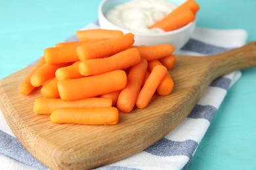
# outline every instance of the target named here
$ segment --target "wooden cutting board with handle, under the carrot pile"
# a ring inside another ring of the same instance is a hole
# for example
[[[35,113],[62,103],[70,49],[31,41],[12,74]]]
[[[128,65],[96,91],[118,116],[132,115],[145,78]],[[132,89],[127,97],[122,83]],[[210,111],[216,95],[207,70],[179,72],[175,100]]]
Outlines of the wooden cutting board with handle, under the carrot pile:
[[[0,81],[0,106],[14,135],[51,169],[91,169],[121,160],[156,143],[188,116],[209,84],[237,69],[256,66],[256,42],[207,57],[177,55],[171,95],[154,96],[146,109],[120,113],[115,126],[53,124],[49,115],[33,113],[39,89],[18,93],[18,84],[32,69],[22,69]]]

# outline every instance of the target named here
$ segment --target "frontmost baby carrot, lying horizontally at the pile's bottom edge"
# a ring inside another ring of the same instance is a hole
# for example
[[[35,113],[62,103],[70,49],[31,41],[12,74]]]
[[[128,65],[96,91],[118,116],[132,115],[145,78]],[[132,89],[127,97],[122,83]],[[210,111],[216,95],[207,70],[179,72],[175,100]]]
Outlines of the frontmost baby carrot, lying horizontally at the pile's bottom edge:
[[[50,118],[58,124],[114,125],[119,112],[116,107],[66,108],[54,110]]]

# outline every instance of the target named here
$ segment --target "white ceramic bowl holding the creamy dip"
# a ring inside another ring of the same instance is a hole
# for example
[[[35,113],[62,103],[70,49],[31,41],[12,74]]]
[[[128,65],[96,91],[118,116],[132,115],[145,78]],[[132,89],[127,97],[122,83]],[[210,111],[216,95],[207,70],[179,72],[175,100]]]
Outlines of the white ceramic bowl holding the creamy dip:
[[[156,45],[156,44],[172,44],[176,49],[181,48],[190,39],[196,22],[191,22],[180,29],[174,31],[167,31],[164,33],[135,33],[112,24],[105,14],[113,7],[127,3],[129,0],[103,0],[98,7],[98,21],[102,29],[116,29],[121,30],[123,33],[133,33],[135,35],[135,45]]]

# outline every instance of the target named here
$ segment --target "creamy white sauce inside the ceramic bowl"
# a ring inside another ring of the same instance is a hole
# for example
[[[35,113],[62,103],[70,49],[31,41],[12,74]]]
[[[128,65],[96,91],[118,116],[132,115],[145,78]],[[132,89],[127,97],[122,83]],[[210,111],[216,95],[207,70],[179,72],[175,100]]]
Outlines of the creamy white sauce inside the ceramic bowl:
[[[106,12],[106,18],[112,24],[137,33],[158,33],[160,29],[148,29],[148,26],[161,20],[177,6],[165,0],[132,0],[118,5]]]

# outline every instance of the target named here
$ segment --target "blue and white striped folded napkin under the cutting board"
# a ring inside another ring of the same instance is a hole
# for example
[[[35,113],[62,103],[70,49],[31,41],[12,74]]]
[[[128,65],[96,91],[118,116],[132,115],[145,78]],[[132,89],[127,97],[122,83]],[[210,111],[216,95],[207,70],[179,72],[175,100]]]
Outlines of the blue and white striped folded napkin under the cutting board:
[[[94,22],[83,29],[98,28]],[[238,48],[245,44],[243,29],[207,29],[196,27],[192,38],[176,54],[205,56]],[[75,41],[72,35],[66,41]],[[221,105],[228,88],[241,76],[234,71],[211,82],[189,116],[166,137],[129,158],[97,169],[187,169],[196,148]],[[16,139],[0,111],[0,169],[47,169],[35,160]]]

